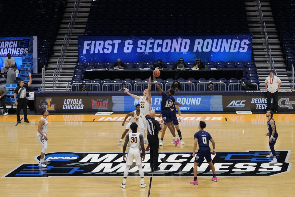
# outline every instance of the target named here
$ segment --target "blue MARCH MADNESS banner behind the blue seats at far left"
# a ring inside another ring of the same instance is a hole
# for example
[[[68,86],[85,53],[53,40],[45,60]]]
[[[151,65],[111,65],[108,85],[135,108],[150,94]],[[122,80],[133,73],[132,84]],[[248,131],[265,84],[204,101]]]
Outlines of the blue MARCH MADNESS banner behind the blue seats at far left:
[[[37,38],[37,37],[36,37]],[[22,64],[23,53],[33,53],[33,37],[0,37],[0,66],[10,53],[18,69]]]

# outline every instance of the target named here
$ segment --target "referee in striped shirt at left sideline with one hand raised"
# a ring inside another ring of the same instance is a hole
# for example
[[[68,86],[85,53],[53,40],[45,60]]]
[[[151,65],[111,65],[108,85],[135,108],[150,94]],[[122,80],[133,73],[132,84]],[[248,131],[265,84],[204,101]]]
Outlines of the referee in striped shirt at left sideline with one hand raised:
[[[26,88],[29,87],[32,83],[31,73],[29,73],[29,77],[30,77],[30,80],[27,84],[24,84],[24,80],[20,80],[19,86],[17,86],[14,91],[14,101],[15,101],[15,104],[17,105],[16,117],[18,118],[18,123],[22,123],[21,118],[19,117],[19,113],[21,112],[21,109],[24,112],[25,123],[30,122],[28,120],[28,113],[27,113],[28,104],[27,104],[27,98],[26,98]],[[16,94],[18,94],[18,101],[16,101]]]

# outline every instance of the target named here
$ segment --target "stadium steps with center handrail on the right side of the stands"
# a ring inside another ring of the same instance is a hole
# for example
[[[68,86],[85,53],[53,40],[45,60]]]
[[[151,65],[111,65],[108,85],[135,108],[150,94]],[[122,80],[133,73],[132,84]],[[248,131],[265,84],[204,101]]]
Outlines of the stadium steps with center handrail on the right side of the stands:
[[[282,77],[282,87],[290,88],[290,76],[286,74],[285,60],[283,57],[280,41],[278,40],[276,25],[274,23],[270,2],[269,0],[260,0],[260,3],[264,17],[266,32],[269,38],[269,46],[274,61],[274,67],[277,70],[278,77]],[[269,75],[270,66],[266,45],[263,38],[257,2],[253,0],[245,0],[245,7],[249,31],[253,34],[253,58],[257,66],[257,72],[260,81],[260,90],[263,90],[265,89],[264,81],[265,78]]]

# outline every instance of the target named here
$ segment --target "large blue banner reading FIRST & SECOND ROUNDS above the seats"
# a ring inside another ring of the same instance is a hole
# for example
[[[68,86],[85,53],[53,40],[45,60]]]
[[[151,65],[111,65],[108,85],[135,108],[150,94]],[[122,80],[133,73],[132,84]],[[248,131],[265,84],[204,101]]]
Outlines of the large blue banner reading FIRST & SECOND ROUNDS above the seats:
[[[252,34],[220,36],[78,36],[79,61],[227,62],[252,58]]]

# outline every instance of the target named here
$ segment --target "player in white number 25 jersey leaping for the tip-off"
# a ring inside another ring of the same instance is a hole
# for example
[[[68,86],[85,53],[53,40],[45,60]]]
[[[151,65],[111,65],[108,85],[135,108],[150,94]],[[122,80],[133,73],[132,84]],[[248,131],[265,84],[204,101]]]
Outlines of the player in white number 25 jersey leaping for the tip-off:
[[[140,104],[140,119],[139,119],[139,132],[144,136],[144,143],[148,144],[147,135],[145,133],[145,129],[147,128],[147,120],[145,119],[144,114],[151,113],[151,77],[148,79],[148,89],[144,90],[143,96],[136,96],[135,94],[129,93],[127,90],[125,90],[126,94],[129,94],[133,98],[136,98],[139,100]],[[156,115],[159,117],[160,115]]]

